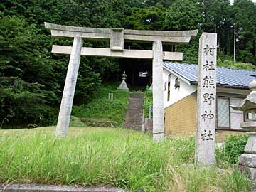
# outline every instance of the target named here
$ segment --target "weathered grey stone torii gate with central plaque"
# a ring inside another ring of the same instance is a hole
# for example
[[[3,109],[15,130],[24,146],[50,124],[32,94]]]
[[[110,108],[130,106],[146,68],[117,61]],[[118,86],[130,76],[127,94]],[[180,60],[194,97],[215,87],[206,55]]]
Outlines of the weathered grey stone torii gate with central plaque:
[[[197,30],[138,31],[124,28],[61,26],[53,23],[45,23],[45,26],[46,29],[50,30],[52,36],[74,39],[72,47],[53,45],[52,48],[52,53],[70,54],[55,136],[65,136],[68,133],[75,85],[78,78],[80,55],[87,55],[153,59],[153,139],[154,141],[164,139],[164,85],[162,62],[163,60],[183,60],[183,54],[163,51],[162,43],[189,43],[191,37],[196,36]],[[107,40],[110,41],[110,48],[82,47],[83,39]],[[124,40],[153,43],[153,48],[152,50],[126,50],[124,49]]]

